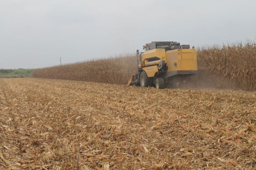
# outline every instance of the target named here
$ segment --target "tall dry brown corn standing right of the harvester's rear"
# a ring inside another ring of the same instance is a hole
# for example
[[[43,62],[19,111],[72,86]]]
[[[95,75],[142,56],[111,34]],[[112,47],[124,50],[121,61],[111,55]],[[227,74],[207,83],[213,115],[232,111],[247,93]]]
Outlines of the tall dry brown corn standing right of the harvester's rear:
[[[256,46],[247,42],[197,51],[199,77],[217,88],[256,90]]]

